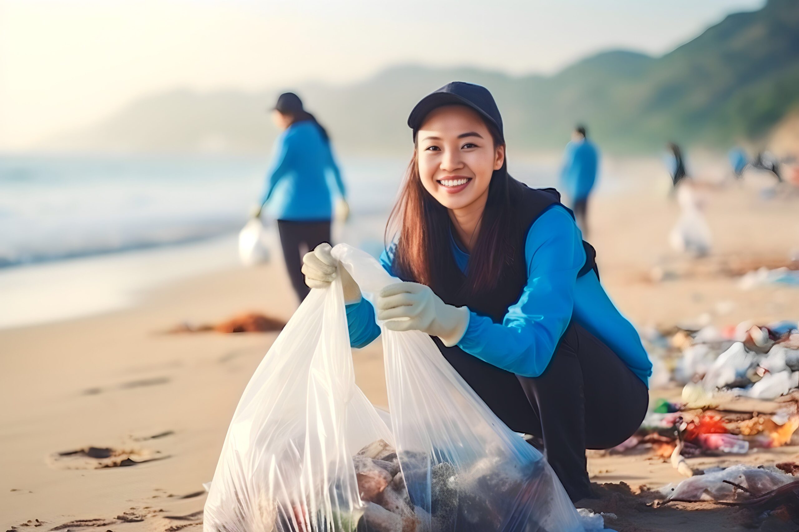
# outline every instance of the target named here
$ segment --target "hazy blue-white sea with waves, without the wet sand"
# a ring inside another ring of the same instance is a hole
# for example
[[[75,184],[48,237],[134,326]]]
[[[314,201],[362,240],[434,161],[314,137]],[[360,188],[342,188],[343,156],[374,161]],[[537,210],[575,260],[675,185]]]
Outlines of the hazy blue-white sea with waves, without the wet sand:
[[[406,164],[341,161],[351,225],[384,223]],[[0,268],[231,234],[246,222],[267,166],[265,157],[0,155]],[[538,186],[555,183],[554,168],[511,170]]]

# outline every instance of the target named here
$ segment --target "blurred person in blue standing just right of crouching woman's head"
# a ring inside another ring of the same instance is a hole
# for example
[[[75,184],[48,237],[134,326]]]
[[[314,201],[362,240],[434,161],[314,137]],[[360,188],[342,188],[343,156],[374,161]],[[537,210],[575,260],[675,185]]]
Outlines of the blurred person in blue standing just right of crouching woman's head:
[[[561,171],[562,190],[571,201],[571,208],[582,233],[588,235],[588,198],[594,189],[599,165],[599,152],[588,140],[585,126],[578,125],[566,144]]]

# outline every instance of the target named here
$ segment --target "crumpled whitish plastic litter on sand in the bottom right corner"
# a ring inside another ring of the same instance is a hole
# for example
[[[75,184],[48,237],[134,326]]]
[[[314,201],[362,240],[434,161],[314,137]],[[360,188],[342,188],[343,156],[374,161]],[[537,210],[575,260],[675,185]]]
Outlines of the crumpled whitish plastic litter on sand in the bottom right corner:
[[[763,495],[795,478],[776,467],[738,464],[724,470],[698,475],[661,488],[666,500],[738,502]],[[743,489],[741,489],[743,488]]]

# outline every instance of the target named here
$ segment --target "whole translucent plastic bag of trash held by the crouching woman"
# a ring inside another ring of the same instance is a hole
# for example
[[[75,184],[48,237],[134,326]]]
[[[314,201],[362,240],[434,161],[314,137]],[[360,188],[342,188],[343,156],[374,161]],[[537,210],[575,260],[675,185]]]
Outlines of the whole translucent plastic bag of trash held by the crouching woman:
[[[333,249],[366,297],[396,282]],[[583,530],[539,451],[418,331],[382,330],[390,423],[355,384],[344,296],[312,290],[233,414],[206,532]]]

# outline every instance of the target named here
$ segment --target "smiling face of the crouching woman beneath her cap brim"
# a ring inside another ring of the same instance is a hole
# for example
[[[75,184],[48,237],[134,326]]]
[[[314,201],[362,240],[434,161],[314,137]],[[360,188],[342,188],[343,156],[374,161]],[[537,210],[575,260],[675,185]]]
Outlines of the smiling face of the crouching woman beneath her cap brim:
[[[416,143],[424,188],[451,210],[487,197],[491,175],[505,160],[505,147],[494,147],[483,119],[464,105],[431,111]]]

